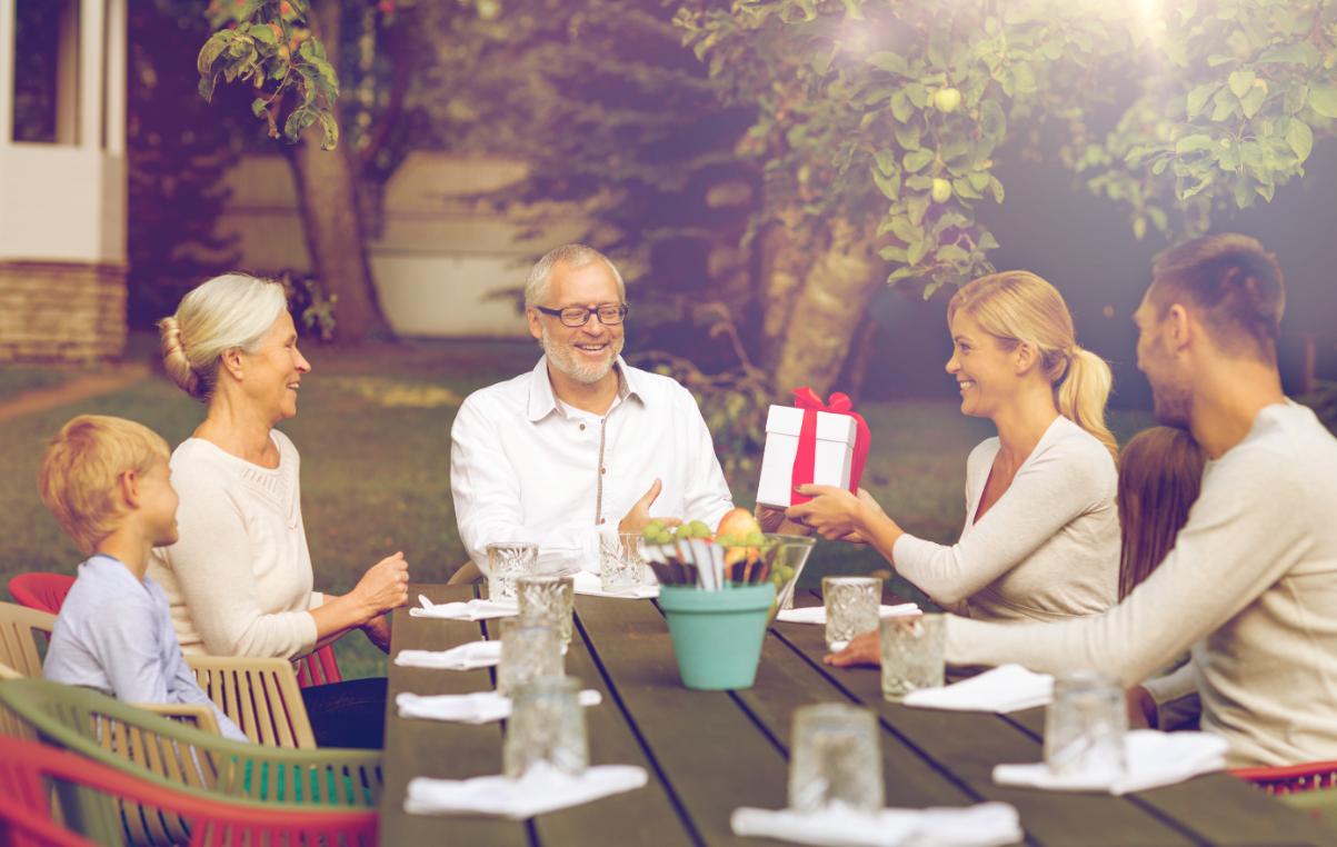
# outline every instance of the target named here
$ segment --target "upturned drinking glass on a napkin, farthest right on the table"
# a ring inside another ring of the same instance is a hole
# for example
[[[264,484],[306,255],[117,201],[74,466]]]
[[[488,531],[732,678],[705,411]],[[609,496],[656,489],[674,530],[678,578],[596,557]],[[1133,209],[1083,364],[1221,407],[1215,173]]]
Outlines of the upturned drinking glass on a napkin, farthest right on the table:
[[[1044,713],[1044,763],[1052,773],[1116,779],[1126,768],[1127,732],[1118,681],[1094,670],[1054,680],[1054,701]]]

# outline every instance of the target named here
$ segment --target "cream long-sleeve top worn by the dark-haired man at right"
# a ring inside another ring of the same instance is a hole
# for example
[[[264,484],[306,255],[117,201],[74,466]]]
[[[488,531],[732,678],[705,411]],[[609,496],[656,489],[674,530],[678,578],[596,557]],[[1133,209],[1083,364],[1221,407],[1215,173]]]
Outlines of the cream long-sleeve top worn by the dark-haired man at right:
[[[1191,646],[1202,729],[1233,767],[1337,759],[1334,516],[1337,439],[1305,407],[1269,405],[1207,463],[1174,549],[1122,603],[1051,625],[948,618],[947,658],[1131,686]]]

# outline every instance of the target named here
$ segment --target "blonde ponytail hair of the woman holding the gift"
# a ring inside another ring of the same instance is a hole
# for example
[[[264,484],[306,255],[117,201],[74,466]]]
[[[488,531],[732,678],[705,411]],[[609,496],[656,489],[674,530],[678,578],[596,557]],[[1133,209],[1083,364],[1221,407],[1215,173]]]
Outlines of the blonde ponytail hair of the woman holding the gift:
[[[1114,384],[1110,365],[1078,347],[1072,314],[1056,288],[1028,270],[992,273],[952,296],[948,326],[957,312],[979,321],[1004,349],[1023,341],[1034,347],[1059,413],[1094,435],[1110,455],[1118,455],[1114,435],[1104,426],[1104,403]]]

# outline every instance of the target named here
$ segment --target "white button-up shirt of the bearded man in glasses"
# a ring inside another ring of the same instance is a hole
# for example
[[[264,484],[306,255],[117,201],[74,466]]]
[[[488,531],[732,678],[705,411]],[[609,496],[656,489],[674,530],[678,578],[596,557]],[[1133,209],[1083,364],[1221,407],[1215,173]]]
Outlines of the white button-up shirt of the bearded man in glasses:
[[[487,545],[501,541],[533,541],[548,562],[596,570],[599,534],[615,533],[655,479],[652,516],[714,527],[733,508],[691,392],[620,357],[616,368],[618,397],[602,417],[558,400],[547,356],[464,400],[451,430],[451,491],[460,538],[484,573]]]

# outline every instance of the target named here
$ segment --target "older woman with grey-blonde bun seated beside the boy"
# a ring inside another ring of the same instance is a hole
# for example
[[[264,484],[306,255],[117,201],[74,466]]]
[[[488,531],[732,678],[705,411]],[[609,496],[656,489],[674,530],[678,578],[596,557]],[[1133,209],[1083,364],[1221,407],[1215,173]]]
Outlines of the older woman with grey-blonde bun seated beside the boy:
[[[312,365],[297,349],[283,288],[245,274],[209,280],[159,322],[167,375],[205,404],[171,456],[180,541],[150,565],[182,650],[215,656],[310,653],[354,629],[382,649],[382,617],[408,599],[408,565],[389,555],[352,591],[313,590],[299,458],[274,428],[297,415]],[[380,747],[385,680],[303,689],[322,747]]]

